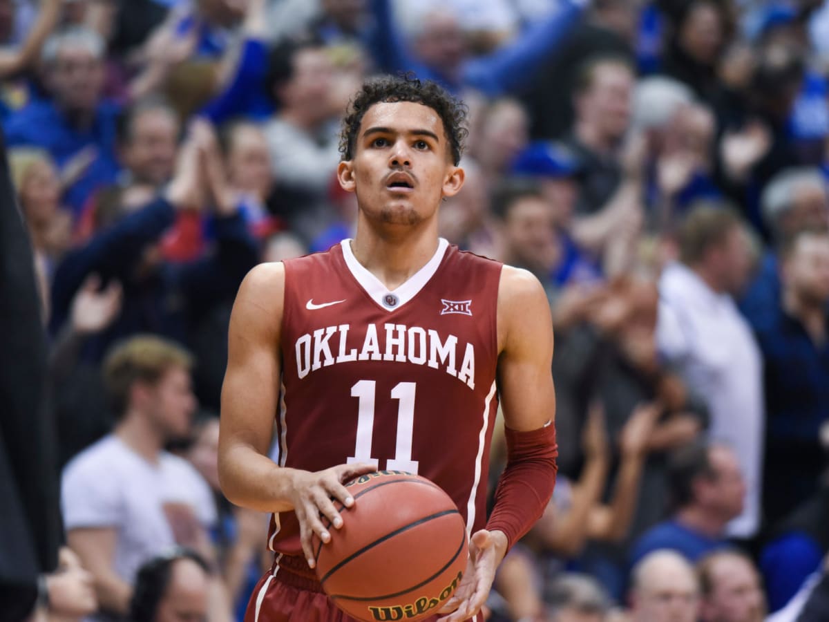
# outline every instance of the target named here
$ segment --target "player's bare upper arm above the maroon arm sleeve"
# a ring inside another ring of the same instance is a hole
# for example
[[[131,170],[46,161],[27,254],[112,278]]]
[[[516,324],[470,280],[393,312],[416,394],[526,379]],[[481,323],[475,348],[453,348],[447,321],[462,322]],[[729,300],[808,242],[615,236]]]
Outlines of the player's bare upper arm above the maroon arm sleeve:
[[[555,419],[553,322],[544,289],[526,270],[504,266],[498,292],[498,388],[504,423],[537,430]]]

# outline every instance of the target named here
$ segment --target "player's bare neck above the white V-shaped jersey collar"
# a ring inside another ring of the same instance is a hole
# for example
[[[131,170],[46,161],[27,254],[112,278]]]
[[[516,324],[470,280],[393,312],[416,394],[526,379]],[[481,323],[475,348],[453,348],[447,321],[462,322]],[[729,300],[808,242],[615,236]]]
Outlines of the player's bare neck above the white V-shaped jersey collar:
[[[351,241],[351,252],[366,270],[394,290],[434,257],[438,250],[437,223],[412,227],[399,236],[388,233],[374,231],[371,225],[360,221]]]

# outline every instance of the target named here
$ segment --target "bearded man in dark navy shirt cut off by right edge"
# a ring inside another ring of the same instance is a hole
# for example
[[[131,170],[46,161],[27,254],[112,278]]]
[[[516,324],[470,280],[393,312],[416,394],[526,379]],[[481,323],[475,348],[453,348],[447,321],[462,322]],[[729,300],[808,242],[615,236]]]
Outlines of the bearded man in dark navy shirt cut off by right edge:
[[[780,260],[781,299],[773,320],[757,331],[765,362],[764,509],[772,523],[815,492],[823,466],[820,433],[829,421],[829,232],[802,231],[783,247]]]

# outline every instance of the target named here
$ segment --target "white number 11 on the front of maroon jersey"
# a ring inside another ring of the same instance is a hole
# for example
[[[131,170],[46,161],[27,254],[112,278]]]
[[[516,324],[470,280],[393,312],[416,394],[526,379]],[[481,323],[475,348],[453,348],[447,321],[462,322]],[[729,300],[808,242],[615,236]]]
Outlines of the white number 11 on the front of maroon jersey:
[[[371,436],[374,433],[374,404],[376,381],[361,380],[351,387],[351,397],[359,399],[357,414],[357,442],[348,464],[366,462],[379,468],[379,460],[371,457]],[[399,382],[391,390],[391,397],[399,402],[397,409],[397,446],[395,457],[386,460],[385,468],[417,474],[418,462],[412,459],[412,431],[414,430],[414,382]]]

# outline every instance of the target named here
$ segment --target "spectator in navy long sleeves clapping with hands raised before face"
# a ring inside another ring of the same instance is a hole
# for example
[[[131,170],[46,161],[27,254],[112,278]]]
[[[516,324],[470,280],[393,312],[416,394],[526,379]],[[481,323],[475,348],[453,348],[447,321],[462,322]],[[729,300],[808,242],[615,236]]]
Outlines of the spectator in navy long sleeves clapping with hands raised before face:
[[[172,225],[177,211],[201,206],[202,190],[214,206],[215,250],[189,263],[160,261],[157,245],[162,233]],[[120,281],[124,307],[111,327],[90,338],[84,350],[86,360],[99,361],[115,339],[138,332],[187,343],[191,323],[235,294],[241,279],[257,263],[258,253],[227,192],[215,137],[207,124],[195,124],[166,192],[100,231],[61,262],[52,287],[51,332],[64,325],[72,297],[95,272],[104,283]]]

